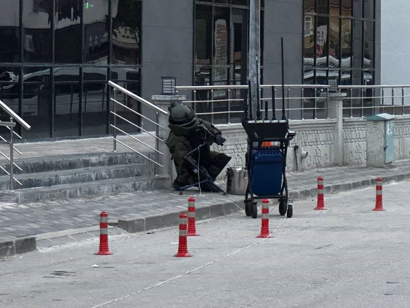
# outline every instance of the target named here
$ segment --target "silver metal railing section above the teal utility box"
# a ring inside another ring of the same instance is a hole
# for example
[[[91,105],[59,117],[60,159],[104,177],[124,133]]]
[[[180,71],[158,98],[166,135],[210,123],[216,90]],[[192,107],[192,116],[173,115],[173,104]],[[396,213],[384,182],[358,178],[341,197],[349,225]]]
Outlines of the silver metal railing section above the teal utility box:
[[[343,100],[344,118],[410,111],[410,85],[338,86],[338,89],[347,95]]]

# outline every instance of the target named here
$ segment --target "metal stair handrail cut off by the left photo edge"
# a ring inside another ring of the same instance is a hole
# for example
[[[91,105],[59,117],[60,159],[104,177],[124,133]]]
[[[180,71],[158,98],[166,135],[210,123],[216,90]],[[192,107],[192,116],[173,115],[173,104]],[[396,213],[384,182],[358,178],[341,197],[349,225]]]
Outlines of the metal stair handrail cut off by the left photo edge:
[[[14,147],[14,135],[17,136],[17,138],[22,139],[22,137],[14,131],[14,127],[16,127],[16,122],[27,130],[31,129],[31,126],[27,124],[27,122],[24,121],[22,118],[20,118],[13,110],[11,110],[9,106],[7,106],[2,101],[0,101],[0,108],[10,115],[10,122],[0,121],[0,126],[6,127],[8,130],[10,130],[10,141],[7,141],[4,137],[0,136],[0,144],[7,144],[10,146],[10,157],[8,157],[5,153],[0,151],[0,155],[5,157],[10,162],[10,170],[7,171],[6,168],[4,168],[3,166],[0,166],[0,169],[2,169],[4,172],[6,172],[7,175],[10,176],[9,190],[14,191],[14,181],[22,185],[22,183],[20,183],[14,177],[14,167],[22,171],[22,168],[20,168],[16,163],[14,163],[14,151],[19,153],[19,155],[23,155],[22,152],[20,152],[18,149]]]

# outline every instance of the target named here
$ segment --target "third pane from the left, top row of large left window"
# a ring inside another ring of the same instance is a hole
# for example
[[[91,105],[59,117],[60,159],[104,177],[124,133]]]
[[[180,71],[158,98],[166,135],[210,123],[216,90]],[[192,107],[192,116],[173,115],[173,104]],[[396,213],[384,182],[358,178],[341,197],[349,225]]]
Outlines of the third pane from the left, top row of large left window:
[[[56,63],[81,63],[81,0],[56,1]]]

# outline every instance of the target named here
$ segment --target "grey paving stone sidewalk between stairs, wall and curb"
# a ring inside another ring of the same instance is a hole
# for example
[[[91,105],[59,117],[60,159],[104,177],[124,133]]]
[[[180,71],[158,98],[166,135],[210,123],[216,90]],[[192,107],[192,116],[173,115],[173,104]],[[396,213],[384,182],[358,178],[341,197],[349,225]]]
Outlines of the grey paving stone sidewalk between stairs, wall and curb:
[[[384,183],[410,179],[410,160],[395,162],[393,168],[367,168],[365,166],[331,167],[305,172],[289,172],[288,183],[291,198],[303,200],[317,194],[316,179],[324,177],[325,191],[339,192],[375,185],[375,179],[382,177]],[[187,209],[189,196],[199,191],[192,189],[179,196],[174,190],[139,191],[112,197],[49,201],[31,204],[0,203],[0,242],[8,239],[55,233],[63,230],[98,226],[99,213],[106,210],[114,224],[118,219],[144,218],[147,229],[161,227],[155,217],[169,215],[171,222],[177,221],[177,214]],[[233,203],[242,205],[243,196],[222,196],[205,193],[198,196],[197,208],[223,206]],[[242,205],[243,206],[243,205]],[[236,207],[237,210],[239,210]],[[210,212],[202,218],[232,213],[229,211]],[[174,219],[175,218],[175,219]],[[165,218],[163,218],[165,220]],[[170,219],[167,217],[167,223]],[[150,223],[149,223],[150,222]],[[165,222],[164,224],[165,225]],[[162,226],[163,226],[162,225]],[[51,238],[52,236],[49,236]]]

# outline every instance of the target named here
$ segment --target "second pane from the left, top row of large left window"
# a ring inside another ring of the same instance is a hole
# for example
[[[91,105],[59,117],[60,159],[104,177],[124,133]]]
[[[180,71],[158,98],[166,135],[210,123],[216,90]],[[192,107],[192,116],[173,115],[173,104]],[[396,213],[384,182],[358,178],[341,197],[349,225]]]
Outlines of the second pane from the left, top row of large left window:
[[[52,0],[24,2],[24,62],[51,63]]]

